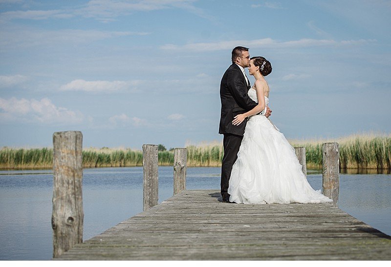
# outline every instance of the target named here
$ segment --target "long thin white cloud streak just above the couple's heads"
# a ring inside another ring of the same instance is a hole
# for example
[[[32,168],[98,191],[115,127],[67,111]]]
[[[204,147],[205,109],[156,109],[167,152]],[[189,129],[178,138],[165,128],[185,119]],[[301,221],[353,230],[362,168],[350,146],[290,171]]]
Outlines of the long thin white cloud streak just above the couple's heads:
[[[313,46],[338,46],[338,45],[355,45],[374,42],[376,40],[350,40],[350,41],[335,41],[330,39],[300,39],[293,41],[276,41],[271,38],[258,40],[234,40],[234,41],[219,41],[219,42],[203,42],[189,43],[185,45],[166,44],[160,47],[163,50],[189,50],[189,51],[217,51],[232,49],[238,43],[254,48],[301,48]]]

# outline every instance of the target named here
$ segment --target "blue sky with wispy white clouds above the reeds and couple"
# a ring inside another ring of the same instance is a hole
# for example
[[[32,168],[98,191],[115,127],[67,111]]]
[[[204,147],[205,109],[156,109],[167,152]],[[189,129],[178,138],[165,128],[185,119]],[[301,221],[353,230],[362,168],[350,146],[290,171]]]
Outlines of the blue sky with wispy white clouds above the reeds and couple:
[[[0,146],[221,141],[237,45],[273,66],[288,139],[391,132],[389,0],[0,0]],[[253,78],[249,77],[253,83]]]

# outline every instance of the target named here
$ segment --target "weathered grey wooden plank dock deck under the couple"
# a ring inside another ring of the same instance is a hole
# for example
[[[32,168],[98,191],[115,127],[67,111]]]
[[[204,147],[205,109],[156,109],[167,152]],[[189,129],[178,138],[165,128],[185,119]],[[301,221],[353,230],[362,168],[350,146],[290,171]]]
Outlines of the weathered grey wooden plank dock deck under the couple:
[[[391,237],[332,204],[239,205],[185,190],[56,260],[391,260]]]

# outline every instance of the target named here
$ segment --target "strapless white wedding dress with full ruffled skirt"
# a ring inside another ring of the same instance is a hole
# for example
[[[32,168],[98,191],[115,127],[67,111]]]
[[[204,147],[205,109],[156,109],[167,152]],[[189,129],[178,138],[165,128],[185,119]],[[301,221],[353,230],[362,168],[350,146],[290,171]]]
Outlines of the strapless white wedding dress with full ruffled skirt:
[[[258,103],[254,88],[249,97]],[[269,99],[265,96],[266,105]],[[232,167],[228,193],[244,204],[331,202],[308,184],[295,149],[265,116],[250,116]]]

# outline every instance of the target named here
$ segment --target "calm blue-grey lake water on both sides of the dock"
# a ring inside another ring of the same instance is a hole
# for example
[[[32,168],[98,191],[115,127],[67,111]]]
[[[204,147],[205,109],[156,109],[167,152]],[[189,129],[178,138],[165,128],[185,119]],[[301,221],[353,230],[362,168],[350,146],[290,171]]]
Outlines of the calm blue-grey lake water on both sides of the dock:
[[[322,174],[308,171],[314,189]],[[220,187],[219,167],[187,169],[187,189]],[[339,207],[391,235],[391,175],[340,174]],[[52,258],[51,170],[0,171],[0,260]],[[84,169],[84,233],[87,240],[142,212],[143,168]],[[159,203],[173,195],[173,167],[159,167]]]

